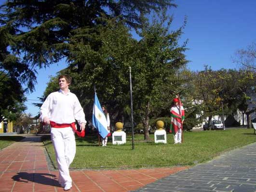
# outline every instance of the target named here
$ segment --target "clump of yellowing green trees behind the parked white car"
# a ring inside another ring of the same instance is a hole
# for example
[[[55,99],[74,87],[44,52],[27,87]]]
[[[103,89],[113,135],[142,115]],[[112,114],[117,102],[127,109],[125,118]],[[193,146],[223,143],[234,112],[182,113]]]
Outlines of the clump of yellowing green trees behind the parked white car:
[[[248,110],[248,99],[255,90],[256,73],[244,70],[212,71],[205,66],[205,70],[194,72],[193,92],[191,95],[200,101],[202,117],[208,117],[208,126],[213,115],[221,115],[221,104],[224,105],[226,115],[234,115],[237,109],[246,114],[248,128],[250,127],[250,111]]]

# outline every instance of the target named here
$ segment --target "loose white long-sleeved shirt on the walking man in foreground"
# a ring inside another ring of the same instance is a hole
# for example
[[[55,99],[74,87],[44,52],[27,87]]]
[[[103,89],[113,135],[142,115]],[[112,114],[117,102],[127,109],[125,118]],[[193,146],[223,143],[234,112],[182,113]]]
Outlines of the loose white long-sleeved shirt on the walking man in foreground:
[[[40,108],[40,120],[45,117],[56,123],[72,123],[75,120],[79,124],[86,123],[83,108],[77,96],[68,90],[65,94],[61,89],[51,93]]]

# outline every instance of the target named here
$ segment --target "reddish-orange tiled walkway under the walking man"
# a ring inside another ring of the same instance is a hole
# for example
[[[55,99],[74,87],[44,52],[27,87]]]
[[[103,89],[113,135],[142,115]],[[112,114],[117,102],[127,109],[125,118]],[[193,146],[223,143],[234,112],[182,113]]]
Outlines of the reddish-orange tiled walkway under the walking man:
[[[128,192],[187,168],[70,171],[68,192]],[[63,192],[57,177],[40,137],[26,136],[0,151],[0,192]]]

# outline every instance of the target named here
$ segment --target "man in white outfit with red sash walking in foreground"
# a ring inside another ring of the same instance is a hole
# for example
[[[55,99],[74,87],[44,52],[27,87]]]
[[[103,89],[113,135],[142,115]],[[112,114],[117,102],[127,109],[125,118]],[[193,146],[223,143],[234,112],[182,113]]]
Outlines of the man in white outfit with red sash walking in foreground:
[[[56,161],[59,169],[59,183],[67,191],[72,187],[69,166],[76,154],[74,132],[75,120],[85,129],[85,115],[77,96],[68,89],[71,84],[69,75],[60,75],[59,91],[47,96],[40,108],[40,120],[51,125],[51,138],[54,145]]]

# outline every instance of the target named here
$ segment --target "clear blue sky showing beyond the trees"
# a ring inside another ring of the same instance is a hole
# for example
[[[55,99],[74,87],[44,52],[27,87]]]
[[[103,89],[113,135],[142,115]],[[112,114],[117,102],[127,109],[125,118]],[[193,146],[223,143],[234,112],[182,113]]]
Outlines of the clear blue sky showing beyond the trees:
[[[190,61],[188,68],[201,71],[208,65],[213,70],[238,69],[231,57],[236,50],[256,42],[256,0],[175,0],[174,3],[178,7],[168,11],[174,16],[171,30],[180,27],[185,16],[188,19],[181,38],[181,42],[189,39],[189,50],[185,52]],[[38,114],[39,108],[32,103],[42,96],[49,77],[66,66],[62,61],[38,71],[35,92],[27,95],[26,113]]]

